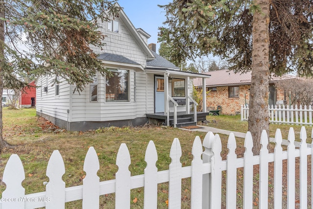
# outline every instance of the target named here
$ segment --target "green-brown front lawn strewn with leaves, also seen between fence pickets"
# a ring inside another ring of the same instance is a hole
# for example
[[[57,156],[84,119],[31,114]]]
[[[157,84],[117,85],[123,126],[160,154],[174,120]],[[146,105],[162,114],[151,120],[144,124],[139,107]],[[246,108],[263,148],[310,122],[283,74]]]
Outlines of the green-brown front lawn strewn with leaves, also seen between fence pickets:
[[[208,125],[229,129],[232,131],[246,132],[247,122],[240,121],[238,116],[209,116]],[[183,131],[176,128],[159,126],[143,127],[111,127],[98,129],[89,132],[54,132],[49,127],[52,126],[42,118],[36,116],[35,109],[22,110],[3,110],[3,136],[15,149],[4,150],[0,154],[0,179],[4,166],[11,154],[18,154],[22,160],[25,170],[25,180],[22,186],[26,194],[45,191],[43,182],[49,179],[45,176],[46,166],[53,150],[59,150],[66,167],[63,181],[66,186],[82,185],[85,172],[83,164],[86,153],[90,146],[93,146],[98,154],[100,170],[98,176],[100,181],[114,179],[117,171],[115,165],[117,151],[121,143],[126,143],[131,155],[131,165],[129,169],[131,175],[143,174],[146,163],[144,161],[145,150],[150,140],[153,140],[158,153],[156,166],[158,170],[167,170],[171,162],[169,153],[174,138],[179,138],[182,157],[182,166],[191,165],[191,148],[196,136],[203,140],[205,133]],[[270,125],[271,135],[275,127],[280,127],[283,134],[288,130],[286,125]],[[283,127],[283,128],[282,128]],[[294,126],[296,132],[300,131],[300,126]],[[273,135],[274,136],[274,135]],[[227,154],[228,136],[220,135],[222,139],[222,157],[225,159]],[[237,138],[237,150],[242,157],[244,140]],[[271,149],[273,145],[271,145]],[[239,177],[242,177],[237,171]],[[0,182],[0,194],[5,189],[5,184]],[[238,186],[238,207],[242,205],[242,186]],[[132,200],[137,199],[134,203]],[[166,200],[168,199],[168,184],[158,185],[158,209],[167,209]],[[190,208],[190,178],[182,180],[182,209]],[[74,201],[66,204],[66,208],[81,208],[81,201]],[[114,194],[103,195],[100,197],[100,208],[114,208]],[[131,208],[143,208],[143,188],[136,188],[131,191]]]

